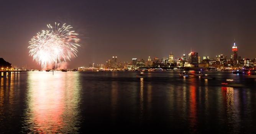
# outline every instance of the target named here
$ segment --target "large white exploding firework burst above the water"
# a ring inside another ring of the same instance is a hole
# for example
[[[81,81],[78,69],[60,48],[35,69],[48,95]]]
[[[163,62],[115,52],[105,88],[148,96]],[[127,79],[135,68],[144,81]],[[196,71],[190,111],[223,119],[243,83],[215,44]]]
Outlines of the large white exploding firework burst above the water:
[[[29,41],[29,54],[36,60],[41,67],[44,68],[48,64],[61,62],[61,60],[70,60],[72,57],[77,57],[77,44],[79,39],[75,31],[71,31],[72,27],[55,23],[55,27],[47,25],[49,30],[37,33],[31,41]]]

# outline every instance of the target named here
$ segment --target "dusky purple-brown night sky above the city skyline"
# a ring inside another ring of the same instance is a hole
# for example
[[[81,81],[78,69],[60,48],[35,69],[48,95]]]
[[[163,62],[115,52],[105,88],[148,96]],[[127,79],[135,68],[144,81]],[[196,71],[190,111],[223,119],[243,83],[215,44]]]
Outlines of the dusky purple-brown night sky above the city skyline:
[[[1,0],[0,57],[12,65],[39,67],[28,41],[47,24],[72,25],[81,39],[68,68],[132,58],[238,56],[256,58],[255,0]]]

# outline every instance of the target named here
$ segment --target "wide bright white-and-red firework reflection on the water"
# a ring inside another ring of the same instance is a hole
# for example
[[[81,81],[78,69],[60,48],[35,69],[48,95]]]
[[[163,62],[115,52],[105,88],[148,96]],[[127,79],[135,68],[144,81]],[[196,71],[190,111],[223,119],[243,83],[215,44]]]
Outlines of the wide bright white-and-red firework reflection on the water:
[[[77,132],[80,88],[79,73],[29,73],[24,131]]]

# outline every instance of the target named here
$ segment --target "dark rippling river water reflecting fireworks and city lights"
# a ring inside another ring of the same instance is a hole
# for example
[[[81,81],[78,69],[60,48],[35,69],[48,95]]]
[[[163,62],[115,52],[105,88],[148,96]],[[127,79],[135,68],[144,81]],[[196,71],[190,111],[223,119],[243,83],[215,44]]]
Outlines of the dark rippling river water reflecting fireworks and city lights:
[[[179,73],[2,73],[0,132],[256,132],[254,79],[228,71],[203,72],[213,80]],[[226,79],[236,85],[221,84]]]

